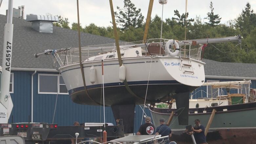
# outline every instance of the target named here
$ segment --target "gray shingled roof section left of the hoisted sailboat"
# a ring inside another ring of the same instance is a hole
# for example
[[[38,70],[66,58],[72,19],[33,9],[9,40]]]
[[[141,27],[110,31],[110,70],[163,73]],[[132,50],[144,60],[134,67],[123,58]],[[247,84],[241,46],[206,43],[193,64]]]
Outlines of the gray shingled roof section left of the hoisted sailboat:
[[[0,14],[0,62],[4,41],[5,15]],[[13,17],[13,46],[11,67],[15,68],[53,68],[51,57],[34,58],[35,53],[50,49],[78,47],[78,32],[53,27],[53,33],[40,33],[32,29],[32,23]],[[81,32],[81,46],[113,43],[115,39]]]

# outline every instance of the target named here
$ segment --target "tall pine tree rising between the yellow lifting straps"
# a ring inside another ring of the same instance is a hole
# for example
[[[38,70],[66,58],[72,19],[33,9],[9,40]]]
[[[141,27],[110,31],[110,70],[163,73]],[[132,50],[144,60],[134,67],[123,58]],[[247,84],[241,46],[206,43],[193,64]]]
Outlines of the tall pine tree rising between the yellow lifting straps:
[[[142,27],[144,16],[141,10],[135,7],[131,0],[124,0],[124,7],[117,7],[119,13],[115,12],[117,24],[122,27],[122,30],[127,30],[130,26],[134,28]]]

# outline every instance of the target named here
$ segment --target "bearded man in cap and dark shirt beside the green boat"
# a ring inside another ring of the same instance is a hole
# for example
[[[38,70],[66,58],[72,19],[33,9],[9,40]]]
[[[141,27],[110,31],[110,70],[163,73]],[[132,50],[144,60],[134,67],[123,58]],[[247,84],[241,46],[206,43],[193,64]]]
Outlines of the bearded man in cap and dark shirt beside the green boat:
[[[197,144],[206,144],[206,137],[204,135],[204,126],[200,124],[200,120],[195,120],[195,127],[191,130],[194,132],[194,137]]]

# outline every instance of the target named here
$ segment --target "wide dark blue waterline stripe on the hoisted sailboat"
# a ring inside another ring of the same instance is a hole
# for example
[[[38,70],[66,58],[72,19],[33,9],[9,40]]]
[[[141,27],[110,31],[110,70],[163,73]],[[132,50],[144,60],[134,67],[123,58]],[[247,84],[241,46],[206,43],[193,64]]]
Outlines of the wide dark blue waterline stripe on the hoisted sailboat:
[[[128,82],[128,85],[147,85],[148,84],[181,84],[176,80],[152,80],[152,81],[133,81],[133,82]],[[97,85],[90,85],[86,86],[87,89],[94,89],[94,88],[101,88],[102,84],[97,84]],[[104,87],[116,87],[116,86],[124,86],[122,82],[117,82],[117,83],[106,83],[104,84]],[[69,90],[69,94],[82,91],[84,90],[84,87],[79,87],[75,88],[72,90]]]

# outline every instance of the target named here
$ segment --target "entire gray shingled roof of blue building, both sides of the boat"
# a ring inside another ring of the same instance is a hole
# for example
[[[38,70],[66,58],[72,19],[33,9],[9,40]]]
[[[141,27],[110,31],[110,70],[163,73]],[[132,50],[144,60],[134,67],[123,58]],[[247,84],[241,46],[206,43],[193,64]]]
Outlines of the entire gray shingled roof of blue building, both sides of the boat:
[[[6,16],[0,14],[0,64],[2,64],[3,36]],[[48,56],[34,58],[34,53],[47,49],[78,47],[77,31],[53,27],[53,33],[39,33],[32,29],[31,22],[13,18],[12,67],[52,69],[53,61]],[[81,46],[113,43],[108,37],[81,32]],[[256,77],[256,64],[228,63],[203,59],[205,75]]]

